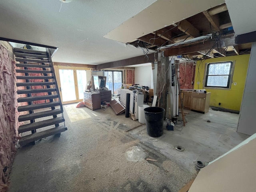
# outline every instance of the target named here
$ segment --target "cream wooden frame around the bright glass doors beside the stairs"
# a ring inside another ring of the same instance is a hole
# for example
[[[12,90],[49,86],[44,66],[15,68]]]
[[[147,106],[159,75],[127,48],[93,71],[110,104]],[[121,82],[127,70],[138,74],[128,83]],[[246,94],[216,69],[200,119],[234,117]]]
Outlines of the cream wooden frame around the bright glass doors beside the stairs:
[[[73,70],[73,74],[74,74],[74,84],[75,84],[75,92],[76,92],[76,100],[71,100],[71,101],[65,101],[63,102],[62,99],[62,91],[61,89],[61,83],[60,83],[60,69],[66,69],[66,70]],[[78,92],[78,81],[77,81],[77,75],[76,75],[76,70],[91,70],[92,68],[88,68],[88,67],[74,67],[74,66],[58,66],[55,65],[54,66],[54,71],[55,71],[55,76],[57,79],[57,83],[58,83],[58,88],[59,88],[59,92],[60,92],[60,98],[62,100],[62,104],[70,104],[70,103],[76,103],[76,102],[81,102],[83,101],[83,99],[79,99],[79,92]]]

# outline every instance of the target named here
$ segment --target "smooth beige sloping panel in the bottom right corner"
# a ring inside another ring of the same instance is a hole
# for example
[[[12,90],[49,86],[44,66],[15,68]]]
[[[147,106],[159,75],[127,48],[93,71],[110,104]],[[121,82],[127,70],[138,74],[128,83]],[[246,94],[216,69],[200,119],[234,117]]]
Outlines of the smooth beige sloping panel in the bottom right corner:
[[[256,139],[209,164],[189,192],[246,192],[256,189]]]

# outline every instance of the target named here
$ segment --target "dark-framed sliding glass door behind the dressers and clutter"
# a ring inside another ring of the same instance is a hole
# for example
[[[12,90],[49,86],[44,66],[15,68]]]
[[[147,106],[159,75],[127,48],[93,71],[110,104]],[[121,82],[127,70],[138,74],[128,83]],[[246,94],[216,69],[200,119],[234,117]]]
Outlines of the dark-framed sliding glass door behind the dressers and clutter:
[[[111,90],[112,95],[118,94],[118,89],[122,87],[122,71],[105,71],[104,75],[106,79],[106,87]]]

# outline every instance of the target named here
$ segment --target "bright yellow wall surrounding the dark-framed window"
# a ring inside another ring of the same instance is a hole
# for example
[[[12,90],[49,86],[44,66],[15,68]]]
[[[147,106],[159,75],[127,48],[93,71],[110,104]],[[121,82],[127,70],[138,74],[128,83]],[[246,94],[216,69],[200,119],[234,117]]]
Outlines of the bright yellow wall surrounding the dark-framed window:
[[[207,59],[196,64],[194,89],[203,89],[205,64],[211,62],[235,61],[233,81],[230,90],[206,89],[211,92],[210,105],[240,110],[250,54]],[[199,73],[198,73],[199,71]],[[199,86],[197,82],[200,82]],[[236,82],[236,85],[234,83]]]

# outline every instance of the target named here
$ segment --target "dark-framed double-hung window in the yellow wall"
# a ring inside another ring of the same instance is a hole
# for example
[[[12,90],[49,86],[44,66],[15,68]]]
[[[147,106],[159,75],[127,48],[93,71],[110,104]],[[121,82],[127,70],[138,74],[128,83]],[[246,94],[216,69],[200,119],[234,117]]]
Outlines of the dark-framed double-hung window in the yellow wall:
[[[233,62],[208,63],[204,87],[230,88]]]

